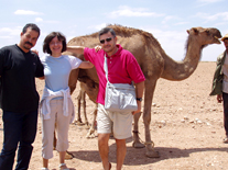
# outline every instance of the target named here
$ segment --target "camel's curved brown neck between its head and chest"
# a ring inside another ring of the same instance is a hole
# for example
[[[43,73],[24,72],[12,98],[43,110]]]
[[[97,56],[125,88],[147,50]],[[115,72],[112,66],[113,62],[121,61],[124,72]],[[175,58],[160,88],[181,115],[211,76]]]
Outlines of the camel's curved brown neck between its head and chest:
[[[183,61],[175,61],[169,56],[165,57],[162,78],[178,81],[188,78],[195,71],[200,58],[202,45],[194,39],[188,39],[186,48],[187,52]]]

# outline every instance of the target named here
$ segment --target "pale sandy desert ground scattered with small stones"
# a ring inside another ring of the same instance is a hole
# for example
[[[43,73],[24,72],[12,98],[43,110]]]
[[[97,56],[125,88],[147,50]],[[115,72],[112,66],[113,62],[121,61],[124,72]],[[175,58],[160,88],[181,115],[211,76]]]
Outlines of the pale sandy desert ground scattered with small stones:
[[[160,79],[156,86],[153,106],[151,136],[160,158],[146,158],[145,148],[132,148],[132,140],[127,143],[127,156],[123,170],[192,170],[228,169],[228,144],[222,144],[222,105],[216,97],[209,97],[215,63],[199,63],[196,71],[184,81]],[[37,80],[41,94],[43,81]],[[79,87],[78,87],[79,89]],[[73,94],[77,109],[78,89]],[[87,98],[89,122],[94,103]],[[0,114],[1,115],[1,114]],[[84,118],[83,118],[84,120]],[[2,147],[2,120],[0,118],[0,149]],[[66,160],[72,170],[101,170],[97,149],[97,137],[87,139],[85,126],[70,125],[68,151],[74,158]],[[140,137],[144,140],[143,121],[140,120]],[[31,170],[41,169],[41,120],[30,163]],[[110,139],[110,162],[116,169],[116,145]],[[58,169],[58,154],[50,160],[50,169]]]

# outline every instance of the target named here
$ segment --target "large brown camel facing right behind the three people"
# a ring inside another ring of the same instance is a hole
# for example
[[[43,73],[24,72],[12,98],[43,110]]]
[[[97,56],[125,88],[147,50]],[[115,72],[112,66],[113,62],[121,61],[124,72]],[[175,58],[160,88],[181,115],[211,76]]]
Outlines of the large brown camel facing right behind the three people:
[[[143,123],[145,143],[140,143],[138,133],[138,123],[141,114],[135,114],[133,125],[133,147],[140,148],[145,146],[145,155],[150,158],[158,158],[159,152],[153,148],[154,145],[150,134],[151,105],[156,81],[159,78],[171,81],[181,81],[188,78],[198,65],[203,48],[209,44],[220,44],[218,39],[221,37],[220,32],[217,29],[203,27],[193,27],[188,30],[186,56],[182,61],[175,61],[165,54],[160,43],[153,37],[151,33],[121,25],[109,26],[115,30],[118,38],[118,44],[121,44],[124,49],[128,49],[133,54],[145,76],[143,98]],[[96,45],[99,45],[98,32],[90,35],[74,37],[68,42],[67,45],[79,45],[94,48]],[[85,60],[83,55],[72,55]],[[82,80],[82,77],[84,76],[91,79],[96,83],[99,83],[95,68],[86,70],[76,69],[72,71],[69,77],[68,84],[72,92],[76,88],[77,79],[79,78]]]

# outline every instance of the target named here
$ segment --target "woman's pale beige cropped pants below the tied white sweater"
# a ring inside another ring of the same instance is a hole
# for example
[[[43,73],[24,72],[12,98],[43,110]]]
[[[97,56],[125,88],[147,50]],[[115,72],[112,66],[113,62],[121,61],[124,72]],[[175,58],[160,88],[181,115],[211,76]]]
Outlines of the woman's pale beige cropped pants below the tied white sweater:
[[[69,113],[73,112],[73,103],[68,100]],[[56,131],[57,151],[66,151],[68,149],[68,128],[72,114],[63,115],[63,99],[51,100],[51,118],[44,120],[42,115],[42,157],[44,159],[53,158],[53,138]]]

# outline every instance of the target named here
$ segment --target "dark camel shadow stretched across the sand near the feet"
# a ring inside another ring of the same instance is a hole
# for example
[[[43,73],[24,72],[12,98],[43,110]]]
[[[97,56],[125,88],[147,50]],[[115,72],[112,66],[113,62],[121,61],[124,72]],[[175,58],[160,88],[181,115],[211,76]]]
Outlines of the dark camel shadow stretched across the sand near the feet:
[[[173,158],[183,158],[189,157],[192,152],[200,152],[200,151],[226,151],[228,152],[228,148],[191,148],[191,149],[180,149],[180,148],[169,148],[169,147],[155,147],[155,150],[160,152],[160,158],[148,158],[145,156],[145,148],[133,148],[127,147],[127,155],[124,165],[128,166],[140,166],[140,165],[149,165],[154,163],[165,159]],[[69,151],[73,154],[74,158],[93,161],[93,162],[101,162],[98,150],[79,150],[79,151]],[[116,144],[109,146],[109,161],[116,162]]]

